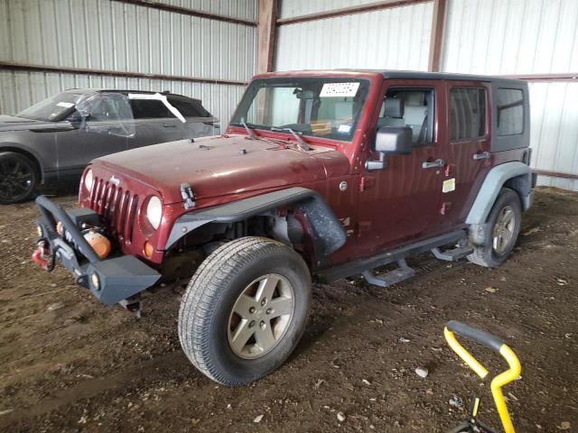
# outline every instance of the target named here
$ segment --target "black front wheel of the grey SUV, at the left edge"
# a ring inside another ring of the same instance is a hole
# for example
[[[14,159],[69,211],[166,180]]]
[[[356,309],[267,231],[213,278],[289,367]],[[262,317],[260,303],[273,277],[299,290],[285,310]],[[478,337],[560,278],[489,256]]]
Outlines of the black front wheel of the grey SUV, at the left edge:
[[[38,186],[34,162],[16,152],[0,152],[0,205],[33,198]]]

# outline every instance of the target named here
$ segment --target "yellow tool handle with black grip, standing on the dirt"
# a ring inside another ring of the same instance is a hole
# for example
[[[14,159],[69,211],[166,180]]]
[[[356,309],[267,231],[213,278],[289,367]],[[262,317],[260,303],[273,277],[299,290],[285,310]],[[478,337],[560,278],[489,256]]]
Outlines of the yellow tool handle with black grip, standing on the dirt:
[[[480,364],[480,362],[474,358],[470,352],[463,348],[463,346],[458,343],[455,338],[455,334],[465,336],[470,338],[481,345],[485,345],[502,355],[504,359],[508,362],[509,369],[504,373],[500,373],[498,376],[494,377],[491,381],[490,389],[494,401],[496,402],[496,408],[498,408],[499,419],[502,421],[505,433],[515,433],[514,425],[512,420],[509,418],[508,407],[506,406],[506,401],[504,401],[504,396],[502,394],[502,386],[512,382],[519,376],[522,371],[522,366],[517,359],[516,354],[504,344],[504,342],[497,336],[492,336],[491,334],[480,331],[474,327],[470,327],[465,323],[452,320],[447,323],[445,329],[443,330],[443,335],[446,341],[452,347],[452,350],[461,357],[461,359],[468,365],[471,369],[476,372],[480,378],[484,379],[488,375],[488,370]]]

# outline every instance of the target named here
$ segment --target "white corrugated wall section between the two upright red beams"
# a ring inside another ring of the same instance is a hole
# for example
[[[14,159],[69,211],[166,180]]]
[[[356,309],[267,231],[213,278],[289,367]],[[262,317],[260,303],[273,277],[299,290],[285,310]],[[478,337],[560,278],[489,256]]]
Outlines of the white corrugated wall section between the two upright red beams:
[[[312,12],[312,5],[319,12],[321,4],[358,3],[363,2],[283,0],[281,11],[283,16],[289,14],[284,10]],[[277,32],[275,69],[425,70],[432,14],[433,4],[424,3],[282,25]]]

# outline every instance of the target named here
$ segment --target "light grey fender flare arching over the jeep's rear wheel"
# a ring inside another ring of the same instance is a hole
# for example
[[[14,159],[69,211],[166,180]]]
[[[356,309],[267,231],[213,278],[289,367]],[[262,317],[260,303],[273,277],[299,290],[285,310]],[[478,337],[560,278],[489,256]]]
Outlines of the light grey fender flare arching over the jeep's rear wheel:
[[[532,205],[532,170],[520,161],[506,162],[489,170],[466,218],[466,224],[484,224],[504,186],[517,192],[522,210],[527,210]]]

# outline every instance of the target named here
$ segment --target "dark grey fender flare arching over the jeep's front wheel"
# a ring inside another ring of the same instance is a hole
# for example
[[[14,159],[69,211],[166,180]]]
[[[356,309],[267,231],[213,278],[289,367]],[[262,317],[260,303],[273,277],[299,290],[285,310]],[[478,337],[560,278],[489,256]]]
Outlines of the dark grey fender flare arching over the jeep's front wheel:
[[[320,256],[326,257],[345,244],[347,235],[340,220],[319,193],[312,189],[294,187],[185,214],[175,221],[164,249],[168,250],[182,236],[200,226],[210,223],[235,223],[286,205],[293,205],[303,212],[312,228],[315,251]]]

